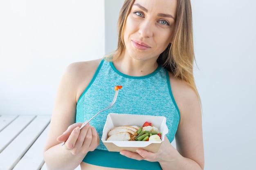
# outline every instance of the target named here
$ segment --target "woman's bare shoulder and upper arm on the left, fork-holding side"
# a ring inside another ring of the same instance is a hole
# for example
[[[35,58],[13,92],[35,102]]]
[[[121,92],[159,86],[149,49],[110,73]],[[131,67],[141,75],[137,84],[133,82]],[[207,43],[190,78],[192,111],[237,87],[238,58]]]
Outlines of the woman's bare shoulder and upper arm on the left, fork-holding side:
[[[57,137],[75,123],[76,103],[92,79],[98,64],[99,60],[78,62],[65,69],[57,88],[44,151],[57,145]]]

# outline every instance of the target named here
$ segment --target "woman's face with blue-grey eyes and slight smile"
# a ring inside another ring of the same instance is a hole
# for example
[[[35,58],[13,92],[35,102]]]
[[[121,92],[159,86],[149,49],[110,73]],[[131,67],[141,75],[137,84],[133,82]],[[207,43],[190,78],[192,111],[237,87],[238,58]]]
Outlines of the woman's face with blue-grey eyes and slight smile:
[[[157,60],[172,41],[177,0],[135,0],[124,30],[125,56]]]

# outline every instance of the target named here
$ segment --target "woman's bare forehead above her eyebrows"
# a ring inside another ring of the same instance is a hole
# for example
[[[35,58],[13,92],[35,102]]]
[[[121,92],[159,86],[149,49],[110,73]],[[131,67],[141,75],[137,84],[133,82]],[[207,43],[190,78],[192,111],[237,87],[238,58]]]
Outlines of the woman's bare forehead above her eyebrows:
[[[176,18],[177,0],[135,0],[132,7],[143,7],[146,12],[165,13]]]

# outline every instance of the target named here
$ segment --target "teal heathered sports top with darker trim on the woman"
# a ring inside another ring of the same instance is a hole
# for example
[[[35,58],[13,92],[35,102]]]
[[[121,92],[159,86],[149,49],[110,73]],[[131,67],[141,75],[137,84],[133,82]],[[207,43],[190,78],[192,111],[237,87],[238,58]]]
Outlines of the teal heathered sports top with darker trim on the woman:
[[[112,108],[101,112],[90,121],[100,139],[109,113],[154,115],[166,117],[169,141],[172,142],[180,121],[180,113],[171,91],[168,71],[162,66],[149,75],[134,77],[119,72],[112,62],[102,60],[90,84],[85,88],[76,106],[76,122],[89,120],[108,106],[115,95],[114,87],[123,86]],[[161,170],[158,162],[137,161],[109,152],[100,141],[99,146],[83,159],[97,166],[134,170]]]

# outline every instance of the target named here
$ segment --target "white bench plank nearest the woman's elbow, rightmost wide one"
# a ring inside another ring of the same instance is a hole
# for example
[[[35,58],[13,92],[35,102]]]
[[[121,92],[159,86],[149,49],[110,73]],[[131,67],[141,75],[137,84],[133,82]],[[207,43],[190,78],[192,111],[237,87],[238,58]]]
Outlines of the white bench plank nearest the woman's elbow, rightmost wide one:
[[[30,170],[40,170],[44,164],[43,147],[47,137],[49,125],[36,139],[34,144],[29,148],[26,154],[20,159],[13,170],[22,170],[24,167]]]

